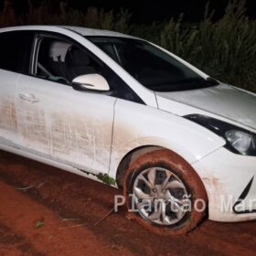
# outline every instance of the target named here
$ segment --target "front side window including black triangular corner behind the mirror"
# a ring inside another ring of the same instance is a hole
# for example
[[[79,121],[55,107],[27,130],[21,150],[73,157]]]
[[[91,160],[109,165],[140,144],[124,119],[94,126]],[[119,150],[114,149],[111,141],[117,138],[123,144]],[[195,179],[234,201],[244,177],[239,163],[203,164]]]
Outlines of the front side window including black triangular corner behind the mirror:
[[[32,75],[37,78],[71,85],[81,75],[100,74],[110,86],[110,91],[103,92],[106,95],[144,103],[101,59],[71,39],[41,35],[37,37],[36,49]]]

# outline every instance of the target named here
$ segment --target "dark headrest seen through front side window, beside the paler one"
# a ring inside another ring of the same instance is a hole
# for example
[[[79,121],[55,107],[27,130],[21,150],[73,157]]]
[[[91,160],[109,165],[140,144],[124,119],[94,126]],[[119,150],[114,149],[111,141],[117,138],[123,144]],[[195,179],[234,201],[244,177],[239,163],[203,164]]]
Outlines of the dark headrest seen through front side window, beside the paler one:
[[[85,52],[79,48],[71,46],[67,52],[65,62],[68,67],[88,66],[90,64],[90,59]]]

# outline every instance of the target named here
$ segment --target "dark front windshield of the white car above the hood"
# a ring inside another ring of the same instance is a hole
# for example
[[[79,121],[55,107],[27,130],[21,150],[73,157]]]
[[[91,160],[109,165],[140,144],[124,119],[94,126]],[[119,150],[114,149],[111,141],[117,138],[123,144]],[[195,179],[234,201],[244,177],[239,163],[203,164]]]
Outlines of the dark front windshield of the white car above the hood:
[[[216,85],[143,40],[123,37],[87,38],[150,90],[187,91]]]

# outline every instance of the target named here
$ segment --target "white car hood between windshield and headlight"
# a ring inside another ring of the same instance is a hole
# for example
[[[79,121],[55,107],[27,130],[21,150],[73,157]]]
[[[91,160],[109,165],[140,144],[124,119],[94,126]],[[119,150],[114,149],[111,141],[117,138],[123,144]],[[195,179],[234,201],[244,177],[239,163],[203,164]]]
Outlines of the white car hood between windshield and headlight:
[[[200,90],[155,93],[161,110],[179,115],[210,112],[256,129],[256,94],[252,92],[220,84]]]

